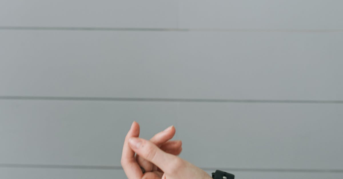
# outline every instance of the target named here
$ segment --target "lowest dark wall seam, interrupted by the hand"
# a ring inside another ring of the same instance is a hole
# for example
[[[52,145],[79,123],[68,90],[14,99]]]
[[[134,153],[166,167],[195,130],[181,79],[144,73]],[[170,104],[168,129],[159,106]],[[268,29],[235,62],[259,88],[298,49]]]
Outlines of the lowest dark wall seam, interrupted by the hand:
[[[2,168],[55,168],[55,169],[101,169],[122,170],[121,166],[104,165],[42,165],[42,164],[0,164]],[[343,169],[292,169],[292,168],[214,168],[201,167],[203,170],[225,170],[225,171],[264,171],[264,172],[336,172],[343,173]]]

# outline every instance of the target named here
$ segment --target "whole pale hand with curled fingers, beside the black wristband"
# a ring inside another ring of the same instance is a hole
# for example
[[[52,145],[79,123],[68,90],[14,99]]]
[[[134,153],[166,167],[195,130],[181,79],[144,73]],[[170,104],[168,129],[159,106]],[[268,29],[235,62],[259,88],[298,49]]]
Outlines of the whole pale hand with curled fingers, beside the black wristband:
[[[139,138],[139,132],[139,124],[133,122],[123,146],[121,165],[128,179],[212,179],[202,169],[177,156],[182,151],[182,143],[170,140],[175,135],[174,126],[149,141]],[[145,169],[144,174],[141,167]]]

